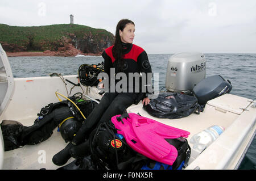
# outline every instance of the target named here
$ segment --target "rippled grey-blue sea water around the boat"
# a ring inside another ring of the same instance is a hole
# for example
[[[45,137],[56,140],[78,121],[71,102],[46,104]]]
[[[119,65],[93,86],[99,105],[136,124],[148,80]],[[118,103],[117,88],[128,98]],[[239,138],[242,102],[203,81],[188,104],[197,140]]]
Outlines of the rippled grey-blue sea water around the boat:
[[[256,54],[205,53],[206,77],[222,75],[232,83],[230,94],[256,100]],[[159,90],[165,87],[168,59],[172,54],[148,54],[153,73],[159,73]],[[77,74],[81,64],[98,64],[101,56],[9,57],[14,78],[42,77],[51,73]],[[256,169],[256,137],[239,169]]]

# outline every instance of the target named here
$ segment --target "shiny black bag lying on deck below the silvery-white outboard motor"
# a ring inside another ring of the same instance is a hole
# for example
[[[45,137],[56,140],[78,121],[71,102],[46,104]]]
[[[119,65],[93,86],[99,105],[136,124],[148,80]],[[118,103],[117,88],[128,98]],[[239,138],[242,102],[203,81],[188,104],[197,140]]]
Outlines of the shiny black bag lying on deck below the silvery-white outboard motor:
[[[177,92],[162,92],[158,98],[151,99],[147,106],[143,105],[143,109],[151,116],[168,119],[179,119],[202,111],[195,96]]]

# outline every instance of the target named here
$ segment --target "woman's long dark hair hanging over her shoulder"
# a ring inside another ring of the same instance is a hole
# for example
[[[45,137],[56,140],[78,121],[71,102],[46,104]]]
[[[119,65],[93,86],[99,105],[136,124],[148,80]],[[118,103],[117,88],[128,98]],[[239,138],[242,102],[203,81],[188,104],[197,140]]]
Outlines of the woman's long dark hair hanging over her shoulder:
[[[119,20],[119,22],[117,23],[117,28],[115,29],[115,43],[114,43],[114,47],[113,47],[113,56],[115,58],[115,60],[118,61],[118,68],[123,70],[123,47],[122,47],[122,41],[121,41],[121,37],[119,35],[119,30],[123,31],[123,28],[126,27],[127,24],[134,24],[134,22],[132,22],[129,19],[121,19]]]

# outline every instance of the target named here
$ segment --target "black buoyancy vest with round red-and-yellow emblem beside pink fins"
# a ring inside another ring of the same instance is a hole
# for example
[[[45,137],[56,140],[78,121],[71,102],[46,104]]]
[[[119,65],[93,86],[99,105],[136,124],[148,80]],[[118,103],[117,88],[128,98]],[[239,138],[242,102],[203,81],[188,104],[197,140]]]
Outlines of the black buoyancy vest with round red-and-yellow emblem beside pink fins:
[[[96,170],[130,169],[126,162],[137,153],[117,134],[111,121],[101,123],[91,134],[91,158]]]

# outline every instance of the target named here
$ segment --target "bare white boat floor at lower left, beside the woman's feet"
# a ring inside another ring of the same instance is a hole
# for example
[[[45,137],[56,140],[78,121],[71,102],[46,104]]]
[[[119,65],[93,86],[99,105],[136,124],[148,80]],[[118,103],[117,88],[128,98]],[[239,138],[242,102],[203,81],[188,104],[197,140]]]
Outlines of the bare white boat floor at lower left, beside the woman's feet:
[[[29,121],[29,120],[22,120]],[[57,128],[53,131],[48,140],[39,145],[25,145],[22,148],[5,151],[3,161],[3,170],[55,170],[60,166],[54,165],[52,157],[61,149],[65,148],[67,143],[63,140]],[[70,163],[74,158],[69,159]]]

